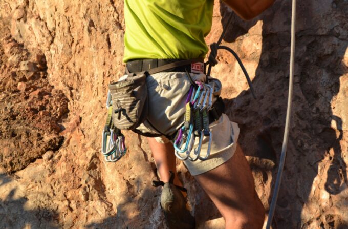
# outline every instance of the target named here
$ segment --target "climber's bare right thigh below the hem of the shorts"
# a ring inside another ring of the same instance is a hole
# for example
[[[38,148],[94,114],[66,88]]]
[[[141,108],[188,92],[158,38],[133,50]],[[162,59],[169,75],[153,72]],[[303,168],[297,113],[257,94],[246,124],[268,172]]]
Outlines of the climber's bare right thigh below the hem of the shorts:
[[[194,178],[214,202],[226,224],[227,221],[249,219],[263,223],[263,205],[255,191],[254,179],[240,145],[237,145],[236,152],[228,161]]]

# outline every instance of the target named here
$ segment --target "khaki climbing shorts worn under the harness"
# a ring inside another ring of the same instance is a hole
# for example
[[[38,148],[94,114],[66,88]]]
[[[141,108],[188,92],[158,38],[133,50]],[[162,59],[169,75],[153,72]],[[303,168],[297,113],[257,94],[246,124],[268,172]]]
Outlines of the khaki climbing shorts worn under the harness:
[[[204,74],[191,74],[194,81],[204,82]],[[190,89],[190,81],[186,73],[182,72],[161,72],[150,75],[146,78],[148,88],[148,121],[145,121],[137,129],[143,133],[164,133],[172,135],[184,123],[185,100]],[[209,84],[213,87],[214,97],[221,93],[221,82],[218,79],[209,77]],[[151,126],[155,128],[151,128]],[[192,176],[205,173],[216,168],[230,159],[237,145],[240,132],[238,124],[231,122],[226,114],[222,114],[219,120],[209,125],[213,134],[211,152],[207,160],[183,161]],[[157,137],[160,143],[167,143],[169,140],[164,137]],[[198,141],[195,142],[195,147]],[[204,137],[201,152],[205,155],[208,147],[208,138]],[[193,154],[193,150],[191,152]],[[192,155],[193,157],[193,155]]]

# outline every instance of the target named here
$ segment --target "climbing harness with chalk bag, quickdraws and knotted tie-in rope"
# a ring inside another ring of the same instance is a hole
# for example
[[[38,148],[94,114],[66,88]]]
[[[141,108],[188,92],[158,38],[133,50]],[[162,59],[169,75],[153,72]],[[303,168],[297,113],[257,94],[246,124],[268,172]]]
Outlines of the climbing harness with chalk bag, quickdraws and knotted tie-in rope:
[[[183,69],[191,82],[191,87],[187,95],[185,105],[186,112],[184,125],[179,129],[179,131],[177,131],[177,133],[170,136],[164,136],[168,137],[169,139],[176,139],[173,140],[173,145],[175,148],[175,155],[180,160],[189,159],[191,161],[195,161],[208,159],[213,138],[213,134],[209,128],[209,123],[218,120],[221,114],[224,112],[224,105],[221,105],[223,104],[223,101],[220,97],[217,97],[217,101],[213,104],[212,99],[214,91],[209,85],[208,80],[211,68],[217,64],[217,50],[224,49],[233,54],[238,64],[241,66],[245,77],[247,78],[252,96],[256,98],[250,77],[242,64],[241,59],[229,47],[220,45],[226,29],[231,22],[231,18],[232,15],[230,16],[227,27],[223,30],[217,43],[210,45],[211,52],[209,54],[208,61],[204,63],[205,66],[209,65],[206,74],[206,82],[193,81],[187,70],[188,65],[203,61],[200,58],[186,60],[149,59],[136,60],[131,61],[131,63],[127,63],[126,73],[128,74],[128,77],[124,80],[113,82],[109,85],[110,91],[108,92],[106,102],[108,117],[102,134],[101,150],[106,161],[117,161],[126,153],[124,136],[121,134],[121,130],[133,130],[136,133],[148,137],[164,135],[151,123],[149,123],[149,120],[146,118],[148,103],[145,79],[148,75],[158,72],[182,72]],[[129,69],[133,73],[130,73]],[[112,106],[113,102],[114,106]],[[215,104],[217,104],[217,106],[215,106]],[[151,128],[159,132],[159,134],[152,135],[150,133],[142,133],[138,131],[136,128],[144,120],[147,120]],[[202,152],[202,144],[206,140],[208,141],[207,151]],[[197,147],[194,147],[195,142],[198,142]],[[191,155],[192,150],[193,155]]]

